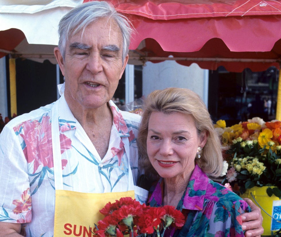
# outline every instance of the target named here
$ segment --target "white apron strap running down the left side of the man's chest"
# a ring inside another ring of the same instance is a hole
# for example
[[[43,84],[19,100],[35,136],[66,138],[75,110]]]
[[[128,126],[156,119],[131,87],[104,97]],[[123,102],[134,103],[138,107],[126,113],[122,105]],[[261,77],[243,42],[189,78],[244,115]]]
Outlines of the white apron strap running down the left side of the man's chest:
[[[51,132],[52,132],[52,149],[54,162],[54,179],[55,190],[63,190],[63,168],[61,163],[61,141],[58,124],[58,104],[59,100],[54,103],[51,111]]]

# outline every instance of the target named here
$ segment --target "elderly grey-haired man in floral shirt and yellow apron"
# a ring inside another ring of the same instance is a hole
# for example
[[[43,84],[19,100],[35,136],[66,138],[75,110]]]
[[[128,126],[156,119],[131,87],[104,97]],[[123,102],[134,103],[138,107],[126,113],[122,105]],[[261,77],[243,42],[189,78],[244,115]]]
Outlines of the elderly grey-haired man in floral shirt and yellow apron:
[[[61,19],[54,54],[64,93],[14,118],[0,136],[0,236],[91,236],[98,205],[124,195],[145,201],[136,187],[140,117],[111,101],[130,31],[106,2],[82,4]],[[256,228],[248,233],[262,233],[258,208],[245,220]]]

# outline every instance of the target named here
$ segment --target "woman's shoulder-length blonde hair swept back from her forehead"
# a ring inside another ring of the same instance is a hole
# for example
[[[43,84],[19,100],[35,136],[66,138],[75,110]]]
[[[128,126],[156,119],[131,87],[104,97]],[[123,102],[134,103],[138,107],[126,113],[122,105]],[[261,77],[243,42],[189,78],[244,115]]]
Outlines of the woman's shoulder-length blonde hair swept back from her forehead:
[[[200,136],[206,132],[208,137],[201,158],[196,159],[196,163],[208,175],[216,177],[221,174],[223,168],[223,148],[214,129],[208,109],[198,94],[183,88],[155,90],[147,97],[137,138],[140,166],[147,173],[153,172],[156,174],[147,156],[146,143],[149,118],[153,111],[163,112],[164,114],[174,112],[190,114],[194,118],[198,135]]]

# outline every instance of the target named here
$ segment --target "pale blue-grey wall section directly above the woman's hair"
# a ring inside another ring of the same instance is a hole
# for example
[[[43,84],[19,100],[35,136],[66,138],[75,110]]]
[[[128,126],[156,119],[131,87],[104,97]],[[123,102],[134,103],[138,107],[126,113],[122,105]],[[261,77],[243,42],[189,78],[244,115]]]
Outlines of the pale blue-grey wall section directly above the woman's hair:
[[[143,66],[143,95],[167,87],[188,88],[199,94],[208,105],[208,70],[195,63],[187,67],[175,61],[147,62]]]

